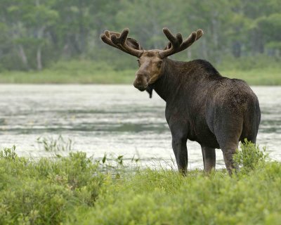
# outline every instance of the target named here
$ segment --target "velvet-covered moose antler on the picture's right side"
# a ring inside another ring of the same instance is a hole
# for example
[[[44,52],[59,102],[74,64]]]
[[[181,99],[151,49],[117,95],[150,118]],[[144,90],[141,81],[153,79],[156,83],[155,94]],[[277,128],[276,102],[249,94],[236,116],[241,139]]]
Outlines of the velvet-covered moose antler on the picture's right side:
[[[185,41],[183,41],[183,36],[181,33],[177,33],[176,37],[171,34],[168,28],[163,28],[163,33],[166,35],[167,39],[169,39],[168,49],[164,49],[159,51],[159,55],[161,58],[166,58],[168,56],[173,55],[174,53],[178,53],[179,51],[183,51],[187,49],[193,42],[197,41],[202,37],[203,30],[199,29],[196,32],[192,32]]]

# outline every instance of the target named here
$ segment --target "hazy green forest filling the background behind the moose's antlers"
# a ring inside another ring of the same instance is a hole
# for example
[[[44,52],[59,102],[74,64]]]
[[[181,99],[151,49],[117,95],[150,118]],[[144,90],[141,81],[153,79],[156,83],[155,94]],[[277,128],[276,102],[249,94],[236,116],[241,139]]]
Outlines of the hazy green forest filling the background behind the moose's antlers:
[[[130,67],[126,54],[100,41],[121,32],[144,49],[162,49],[171,32],[202,28],[204,36],[179,58],[263,55],[281,58],[280,0],[1,0],[0,70],[42,70],[58,60],[93,60]]]

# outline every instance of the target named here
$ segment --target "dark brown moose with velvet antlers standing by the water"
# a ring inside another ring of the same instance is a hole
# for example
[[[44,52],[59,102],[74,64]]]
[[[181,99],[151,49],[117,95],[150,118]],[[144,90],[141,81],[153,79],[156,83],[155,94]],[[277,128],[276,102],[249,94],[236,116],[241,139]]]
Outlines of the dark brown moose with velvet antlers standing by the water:
[[[223,77],[206,60],[181,62],[167,58],[187,49],[202,37],[203,31],[192,32],[183,40],[163,28],[169,43],[163,50],[144,50],[121,33],[105,31],[100,38],[110,46],[138,58],[133,86],[152,91],[166,101],[165,117],[172,137],[172,148],[178,170],[186,174],[188,167],[187,140],[197,141],[202,148],[204,171],[215,169],[215,148],[221,148],[226,169],[231,175],[236,168],[233,154],[239,141],[256,143],[261,120],[259,100],[241,79]]]

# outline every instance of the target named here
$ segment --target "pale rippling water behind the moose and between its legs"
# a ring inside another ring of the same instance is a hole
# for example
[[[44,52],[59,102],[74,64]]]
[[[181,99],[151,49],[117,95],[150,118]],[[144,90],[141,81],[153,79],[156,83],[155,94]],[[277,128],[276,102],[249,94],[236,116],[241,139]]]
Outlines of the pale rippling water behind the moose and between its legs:
[[[252,86],[259,97],[259,146],[281,161],[281,86]],[[72,150],[93,158],[124,155],[150,167],[174,167],[165,103],[133,85],[0,84],[0,148],[16,146],[19,155],[48,155],[42,139],[71,139]],[[65,143],[69,143],[65,141]],[[202,168],[200,145],[188,141],[189,169]],[[216,150],[217,168],[224,167]]]

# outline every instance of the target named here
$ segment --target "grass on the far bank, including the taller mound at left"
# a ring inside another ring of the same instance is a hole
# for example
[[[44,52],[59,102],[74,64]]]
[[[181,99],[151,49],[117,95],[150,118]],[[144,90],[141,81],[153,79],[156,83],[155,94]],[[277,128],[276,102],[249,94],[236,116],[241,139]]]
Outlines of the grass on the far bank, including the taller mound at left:
[[[281,68],[273,67],[240,68],[230,63],[218,67],[223,76],[244,79],[251,85],[281,85]],[[115,70],[108,63],[93,63],[89,60],[58,62],[41,72],[0,72],[2,84],[132,84],[135,70]]]

